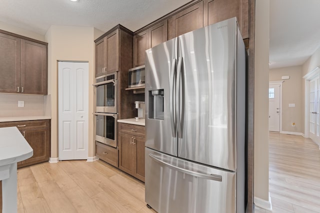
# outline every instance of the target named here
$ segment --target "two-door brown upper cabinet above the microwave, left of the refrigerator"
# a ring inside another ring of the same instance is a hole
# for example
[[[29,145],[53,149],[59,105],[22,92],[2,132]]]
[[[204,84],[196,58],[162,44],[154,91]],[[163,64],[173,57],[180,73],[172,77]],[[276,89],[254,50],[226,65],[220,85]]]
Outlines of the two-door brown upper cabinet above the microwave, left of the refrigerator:
[[[167,40],[167,20],[156,23],[133,36],[133,67],[144,64],[144,51]]]

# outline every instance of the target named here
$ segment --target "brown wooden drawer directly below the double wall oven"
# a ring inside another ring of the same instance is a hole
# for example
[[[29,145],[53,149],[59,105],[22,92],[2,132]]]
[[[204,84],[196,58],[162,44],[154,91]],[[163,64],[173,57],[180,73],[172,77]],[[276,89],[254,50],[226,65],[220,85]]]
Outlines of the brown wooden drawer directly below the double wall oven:
[[[95,142],[95,155],[102,161],[118,167],[118,149]]]

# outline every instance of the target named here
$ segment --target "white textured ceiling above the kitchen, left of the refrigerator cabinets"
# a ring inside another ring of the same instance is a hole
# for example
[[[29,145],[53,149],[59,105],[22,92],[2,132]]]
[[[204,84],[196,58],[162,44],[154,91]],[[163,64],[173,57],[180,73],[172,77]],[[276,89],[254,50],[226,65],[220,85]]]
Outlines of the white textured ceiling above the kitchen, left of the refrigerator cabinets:
[[[107,31],[120,23],[135,31],[189,1],[0,0],[0,21],[39,34],[45,34],[52,24]]]

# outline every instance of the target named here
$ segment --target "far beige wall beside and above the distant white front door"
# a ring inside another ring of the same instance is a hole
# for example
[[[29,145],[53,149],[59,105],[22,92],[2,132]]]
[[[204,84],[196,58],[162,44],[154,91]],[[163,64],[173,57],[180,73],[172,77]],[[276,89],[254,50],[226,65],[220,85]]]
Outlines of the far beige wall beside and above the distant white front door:
[[[282,83],[282,131],[303,133],[302,66],[270,69],[269,81],[280,81],[285,75],[290,76],[290,79]],[[289,104],[295,104],[295,107],[289,107]],[[292,127],[292,122],[295,127]]]

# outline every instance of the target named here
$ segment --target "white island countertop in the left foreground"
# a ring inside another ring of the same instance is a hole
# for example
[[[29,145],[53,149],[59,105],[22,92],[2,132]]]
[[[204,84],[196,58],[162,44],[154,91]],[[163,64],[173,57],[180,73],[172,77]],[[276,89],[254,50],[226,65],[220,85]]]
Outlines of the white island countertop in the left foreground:
[[[33,150],[16,127],[0,128],[0,166],[23,161]]]

